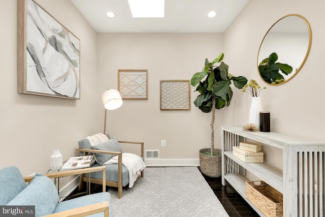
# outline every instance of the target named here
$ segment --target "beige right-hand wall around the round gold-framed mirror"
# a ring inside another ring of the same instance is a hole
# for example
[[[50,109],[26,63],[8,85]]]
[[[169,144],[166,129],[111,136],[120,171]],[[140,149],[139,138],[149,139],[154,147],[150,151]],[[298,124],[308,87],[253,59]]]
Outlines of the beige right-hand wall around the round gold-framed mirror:
[[[325,2],[322,0],[251,0],[224,34],[224,52],[230,55],[232,69],[267,86],[261,96],[265,110],[271,112],[272,131],[325,141],[322,135],[325,74],[321,67],[325,47],[325,28],[322,23],[325,19],[322,13],[324,8]],[[270,86],[257,74],[257,52],[267,30],[287,14],[300,14],[308,20],[312,30],[311,50],[305,65],[293,79],[279,86]],[[227,111],[228,115],[224,117],[227,125],[243,125],[247,122],[251,97],[240,91],[235,94],[241,96],[241,107],[232,107]]]

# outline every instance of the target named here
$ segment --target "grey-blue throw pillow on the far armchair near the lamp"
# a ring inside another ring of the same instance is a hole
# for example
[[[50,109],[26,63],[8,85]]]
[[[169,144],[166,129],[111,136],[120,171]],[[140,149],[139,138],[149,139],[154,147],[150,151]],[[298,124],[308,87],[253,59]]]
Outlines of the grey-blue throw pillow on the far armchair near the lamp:
[[[107,142],[97,144],[97,145],[92,145],[91,149],[122,152],[122,148],[118,144],[118,141],[115,137],[108,140]],[[93,153],[93,156],[95,157],[95,160],[99,165],[104,165],[105,162],[110,160],[112,157],[116,156],[116,154]]]

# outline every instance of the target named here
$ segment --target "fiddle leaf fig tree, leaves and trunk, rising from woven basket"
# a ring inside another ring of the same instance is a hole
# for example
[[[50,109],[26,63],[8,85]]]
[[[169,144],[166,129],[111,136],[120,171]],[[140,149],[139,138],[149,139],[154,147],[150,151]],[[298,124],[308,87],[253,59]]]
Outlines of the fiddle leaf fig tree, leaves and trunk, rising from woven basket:
[[[220,53],[211,63],[206,58],[205,66],[202,72],[195,73],[191,78],[191,85],[197,86],[195,91],[199,91],[200,95],[194,100],[194,105],[201,111],[209,113],[212,111],[211,120],[211,156],[214,151],[214,116],[215,109],[221,109],[225,105],[228,107],[233,98],[231,88],[232,81],[235,87],[242,89],[247,83],[247,79],[243,76],[235,77],[228,73],[229,66],[221,62],[224,54]],[[219,66],[214,64],[220,63]],[[205,78],[205,79],[204,79]],[[204,80],[203,80],[204,79]]]

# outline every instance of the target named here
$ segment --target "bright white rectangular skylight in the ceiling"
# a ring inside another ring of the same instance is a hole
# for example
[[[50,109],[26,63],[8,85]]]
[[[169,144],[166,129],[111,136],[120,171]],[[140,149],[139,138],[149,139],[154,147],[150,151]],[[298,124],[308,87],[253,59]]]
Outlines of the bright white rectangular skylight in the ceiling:
[[[165,0],[127,0],[133,17],[164,17]]]

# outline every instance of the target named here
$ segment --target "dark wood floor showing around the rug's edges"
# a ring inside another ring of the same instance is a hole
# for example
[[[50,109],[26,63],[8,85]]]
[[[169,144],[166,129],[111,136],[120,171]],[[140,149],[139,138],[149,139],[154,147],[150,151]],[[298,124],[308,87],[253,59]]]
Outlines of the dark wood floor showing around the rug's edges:
[[[200,170],[200,167],[199,167]],[[211,178],[204,174],[202,174],[205,180],[210,185],[214,194],[217,196],[222,206],[226,210],[226,212],[231,217],[238,216],[250,216],[250,217],[258,217],[259,215],[246,203],[246,201],[233,189],[230,184],[223,186],[221,184],[221,177]],[[84,189],[78,191],[76,189],[71,195],[75,195],[79,192],[85,192]],[[106,187],[106,191],[109,190],[109,187]],[[91,184],[91,193],[102,192],[102,185],[99,184]],[[69,196],[68,196],[69,198]]]

